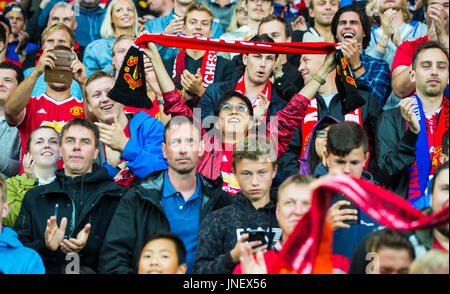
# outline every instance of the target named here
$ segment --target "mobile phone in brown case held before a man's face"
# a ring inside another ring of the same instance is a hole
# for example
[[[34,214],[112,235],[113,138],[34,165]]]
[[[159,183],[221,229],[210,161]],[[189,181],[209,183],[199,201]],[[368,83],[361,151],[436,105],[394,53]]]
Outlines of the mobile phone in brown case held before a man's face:
[[[55,48],[49,50],[55,55],[55,68],[45,68],[44,81],[47,83],[61,83],[69,85],[73,79],[72,68],[70,65],[76,59],[75,54],[69,48]]]

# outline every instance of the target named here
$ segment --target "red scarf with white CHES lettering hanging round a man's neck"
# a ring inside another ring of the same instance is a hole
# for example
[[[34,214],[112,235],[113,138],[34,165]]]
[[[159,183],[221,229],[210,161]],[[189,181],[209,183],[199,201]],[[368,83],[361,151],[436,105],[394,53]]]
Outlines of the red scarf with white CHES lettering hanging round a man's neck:
[[[181,75],[186,68],[185,65],[186,48],[183,48],[178,52],[173,64],[172,79],[174,83],[181,81]],[[216,73],[217,55],[214,51],[207,51],[203,56],[202,67],[200,68],[200,74],[203,77],[203,88],[207,88],[214,82],[214,76]]]

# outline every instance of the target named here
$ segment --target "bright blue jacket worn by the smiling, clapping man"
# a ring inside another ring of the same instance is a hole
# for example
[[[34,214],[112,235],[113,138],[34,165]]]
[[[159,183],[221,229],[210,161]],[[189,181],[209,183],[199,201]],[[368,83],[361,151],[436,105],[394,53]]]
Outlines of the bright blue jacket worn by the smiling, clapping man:
[[[146,112],[138,112],[130,120],[131,139],[128,140],[122,152],[122,159],[127,160],[127,167],[140,179],[145,178],[154,171],[167,169],[167,161],[162,153],[161,144],[164,139],[164,125],[157,118]],[[101,148],[103,149],[103,148]],[[111,177],[120,171],[104,160],[100,160]]]

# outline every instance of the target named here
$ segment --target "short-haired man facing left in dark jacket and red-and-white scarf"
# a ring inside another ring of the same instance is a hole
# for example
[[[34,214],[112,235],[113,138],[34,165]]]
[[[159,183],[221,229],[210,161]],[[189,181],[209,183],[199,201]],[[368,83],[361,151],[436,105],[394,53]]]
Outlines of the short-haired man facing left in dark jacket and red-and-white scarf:
[[[372,170],[376,163],[375,135],[377,120],[381,113],[381,107],[377,99],[366,91],[357,90],[360,97],[366,102],[360,108],[342,113],[342,99],[344,93],[339,93],[336,84],[336,71],[333,69],[328,75],[324,75],[319,70],[324,63],[325,56],[318,54],[303,54],[299,71],[305,83],[315,83],[314,91],[308,96],[312,99],[305,119],[294,131],[286,152],[279,160],[280,174],[283,179],[290,175],[298,174],[300,162],[308,156],[307,144],[309,138],[314,136],[312,129],[319,120],[325,116],[331,116],[339,121],[354,121],[364,127],[369,136],[370,160],[367,165],[368,170]],[[317,76],[319,75],[319,77]],[[321,78],[323,80],[321,80]],[[311,146],[311,145],[310,145]],[[321,169],[321,166],[316,166]],[[303,169],[303,167],[302,167]],[[309,170],[308,174],[314,175],[316,170]],[[306,172],[306,171],[305,171]]]

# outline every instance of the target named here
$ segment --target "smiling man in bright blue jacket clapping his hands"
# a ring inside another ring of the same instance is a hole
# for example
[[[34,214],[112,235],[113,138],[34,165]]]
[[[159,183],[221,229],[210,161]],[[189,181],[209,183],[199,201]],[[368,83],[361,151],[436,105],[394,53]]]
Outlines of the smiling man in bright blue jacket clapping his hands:
[[[118,184],[127,188],[154,171],[167,169],[161,150],[164,125],[145,112],[126,115],[123,104],[107,95],[115,79],[105,71],[94,72],[86,82],[86,106],[100,131],[97,162]]]

